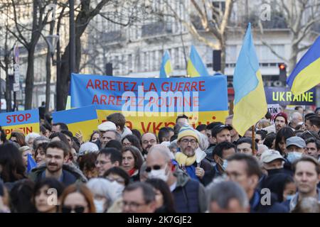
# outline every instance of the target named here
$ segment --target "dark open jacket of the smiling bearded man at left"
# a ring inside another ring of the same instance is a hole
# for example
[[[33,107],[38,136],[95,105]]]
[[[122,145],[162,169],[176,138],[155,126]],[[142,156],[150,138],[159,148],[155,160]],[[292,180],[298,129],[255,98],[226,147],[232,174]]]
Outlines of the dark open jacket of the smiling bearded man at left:
[[[29,174],[29,179],[33,182],[38,182],[41,180],[44,171],[46,171],[46,165],[33,168]],[[63,179],[61,182],[65,184],[65,187],[67,187],[75,182],[87,182],[87,178],[83,175],[81,170],[70,165],[63,164]]]

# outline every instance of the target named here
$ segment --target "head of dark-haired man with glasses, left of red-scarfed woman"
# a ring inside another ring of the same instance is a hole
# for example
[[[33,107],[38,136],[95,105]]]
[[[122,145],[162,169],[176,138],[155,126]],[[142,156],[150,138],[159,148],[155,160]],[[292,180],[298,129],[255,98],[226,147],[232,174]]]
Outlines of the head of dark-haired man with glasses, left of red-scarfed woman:
[[[100,150],[95,161],[98,176],[103,177],[105,172],[111,167],[119,166],[122,162],[122,154],[115,148],[104,148]]]

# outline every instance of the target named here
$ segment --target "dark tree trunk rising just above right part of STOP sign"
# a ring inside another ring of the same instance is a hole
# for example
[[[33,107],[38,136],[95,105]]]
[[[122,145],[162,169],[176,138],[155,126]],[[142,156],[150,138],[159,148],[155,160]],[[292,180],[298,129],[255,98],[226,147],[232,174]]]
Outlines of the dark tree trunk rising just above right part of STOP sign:
[[[28,50],[28,68],[26,72],[26,89],[25,92],[25,101],[24,101],[24,108],[31,109],[32,108],[32,94],[33,94],[33,82],[34,82],[34,50],[36,46],[32,45],[31,48]]]

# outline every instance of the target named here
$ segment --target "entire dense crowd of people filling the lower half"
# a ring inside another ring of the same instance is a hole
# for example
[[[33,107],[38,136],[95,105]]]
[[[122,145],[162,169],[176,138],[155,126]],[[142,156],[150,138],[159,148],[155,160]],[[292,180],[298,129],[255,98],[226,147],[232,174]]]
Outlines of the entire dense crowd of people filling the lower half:
[[[0,128],[0,211],[319,212],[319,113],[268,113],[244,135],[233,115],[140,133],[114,113],[88,140]]]

